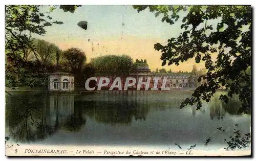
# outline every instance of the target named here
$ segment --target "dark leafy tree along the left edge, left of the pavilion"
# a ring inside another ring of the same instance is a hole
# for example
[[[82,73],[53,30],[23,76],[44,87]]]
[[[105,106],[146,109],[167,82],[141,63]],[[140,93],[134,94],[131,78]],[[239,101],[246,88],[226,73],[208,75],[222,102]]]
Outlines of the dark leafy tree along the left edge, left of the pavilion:
[[[45,27],[63,23],[53,21],[47,13],[40,13],[36,5],[7,5],[5,8],[6,85],[41,84],[41,78],[45,76],[41,73],[41,63],[31,34],[44,35]],[[31,53],[37,61],[28,61]]]

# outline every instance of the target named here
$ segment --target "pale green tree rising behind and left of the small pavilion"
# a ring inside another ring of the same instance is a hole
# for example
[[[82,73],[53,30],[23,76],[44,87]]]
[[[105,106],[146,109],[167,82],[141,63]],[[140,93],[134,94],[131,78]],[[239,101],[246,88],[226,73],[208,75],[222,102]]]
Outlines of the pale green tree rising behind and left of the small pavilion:
[[[40,57],[42,64],[44,65],[50,62],[55,55],[57,56],[57,52],[59,52],[59,49],[55,44],[47,42],[45,40],[37,39],[35,40],[34,43],[36,47],[35,52]],[[59,55],[58,55],[58,59],[59,59]]]

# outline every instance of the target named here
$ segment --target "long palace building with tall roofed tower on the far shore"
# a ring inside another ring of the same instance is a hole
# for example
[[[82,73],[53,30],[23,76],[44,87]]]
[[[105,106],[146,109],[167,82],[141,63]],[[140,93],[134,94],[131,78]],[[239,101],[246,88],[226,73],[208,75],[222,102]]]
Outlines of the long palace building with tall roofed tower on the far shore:
[[[199,83],[197,81],[197,79],[200,75],[205,74],[205,70],[204,69],[197,70],[196,65],[193,66],[193,69],[191,70],[190,73],[187,73],[187,72],[186,73],[184,73],[184,72],[180,72],[180,73],[151,72],[146,60],[144,60],[144,61],[136,60],[136,62],[134,63],[134,66],[135,66],[135,69],[129,75],[129,77],[135,78],[136,84],[129,88],[137,88],[139,78],[142,78],[143,82],[146,82],[148,78],[151,78],[149,88],[154,87],[154,84],[155,84],[154,79],[153,79],[154,77],[161,78],[160,80],[158,80],[157,88],[162,88],[164,78],[166,79],[165,87],[167,87],[167,88],[196,88],[201,83],[204,83],[204,81]],[[96,86],[98,86],[100,77],[107,77],[110,79],[110,83],[107,86],[105,86],[105,88],[110,88],[111,85],[113,84],[114,80],[116,79],[116,76],[98,76],[97,81],[96,81],[97,82]],[[122,89],[124,87],[124,83],[125,83],[125,78],[121,78]],[[142,84],[141,88],[142,89],[145,88],[145,85]]]

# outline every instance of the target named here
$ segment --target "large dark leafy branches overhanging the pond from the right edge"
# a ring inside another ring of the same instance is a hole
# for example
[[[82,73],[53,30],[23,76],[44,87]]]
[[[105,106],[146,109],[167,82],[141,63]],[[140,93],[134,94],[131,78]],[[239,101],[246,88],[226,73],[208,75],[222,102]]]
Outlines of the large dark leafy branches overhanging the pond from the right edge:
[[[179,65],[181,62],[195,58],[196,63],[205,62],[207,73],[200,76],[207,83],[196,88],[194,94],[182,102],[206,102],[214,96],[221,86],[225,86],[227,95],[220,99],[228,102],[228,97],[239,95],[242,106],[239,113],[248,113],[251,109],[251,76],[246,70],[251,66],[251,7],[250,6],[133,6],[138,12],[149,8],[155,16],[163,15],[162,21],[172,25],[182,18],[182,33],[168,39],[167,44],[156,43],[154,48],[162,52],[162,65]],[[218,21],[216,26],[209,22]],[[212,59],[216,53],[217,60]],[[227,83],[227,80],[231,82]]]

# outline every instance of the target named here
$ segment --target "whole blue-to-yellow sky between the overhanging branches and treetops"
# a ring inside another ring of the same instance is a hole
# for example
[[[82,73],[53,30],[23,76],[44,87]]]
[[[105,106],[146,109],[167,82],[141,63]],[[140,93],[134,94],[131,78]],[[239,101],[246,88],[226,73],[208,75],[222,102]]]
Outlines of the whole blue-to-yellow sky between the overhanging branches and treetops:
[[[43,6],[40,10],[45,12],[49,7]],[[167,39],[177,37],[182,32],[180,25],[185,13],[180,14],[180,19],[174,25],[162,22],[161,15],[155,17],[149,10],[138,13],[132,6],[123,5],[83,5],[74,13],[64,12],[57,7],[50,16],[63,24],[47,27],[44,36],[33,36],[55,43],[61,50],[79,48],[86,53],[87,62],[98,56],[126,54],[134,61],[146,59],[152,71],[165,68],[173,72],[190,72],[195,64],[195,60],[190,59],[179,66],[161,66],[161,52],[154,49],[155,43],[166,43]],[[77,26],[82,20],[88,21],[87,30]],[[217,22],[212,24],[217,25]],[[197,64],[197,67],[203,68],[204,64]]]

